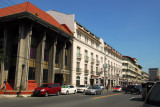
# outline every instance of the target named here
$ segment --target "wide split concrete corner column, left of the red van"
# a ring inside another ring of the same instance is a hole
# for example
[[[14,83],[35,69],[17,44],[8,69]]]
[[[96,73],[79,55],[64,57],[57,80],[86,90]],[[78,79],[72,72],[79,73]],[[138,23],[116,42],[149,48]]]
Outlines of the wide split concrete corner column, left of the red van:
[[[19,43],[17,50],[17,63],[15,73],[14,89],[19,89],[22,84],[22,89],[27,89],[28,72],[29,72],[29,58],[31,46],[32,25],[20,23],[19,25]],[[22,69],[22,65],[24,68]],[[22,73],[23,72],[23,73]],[[22,78],[22,81],[21,81]]]

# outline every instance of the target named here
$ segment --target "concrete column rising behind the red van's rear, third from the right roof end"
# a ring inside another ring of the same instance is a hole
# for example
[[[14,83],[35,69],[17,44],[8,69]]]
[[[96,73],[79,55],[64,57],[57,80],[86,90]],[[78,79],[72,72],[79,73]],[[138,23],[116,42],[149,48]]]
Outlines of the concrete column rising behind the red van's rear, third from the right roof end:
[[[56,46],[57,46],[57,41],[54,41],[53,45],[49,50],[48,82],[54,82],[55,78]]]

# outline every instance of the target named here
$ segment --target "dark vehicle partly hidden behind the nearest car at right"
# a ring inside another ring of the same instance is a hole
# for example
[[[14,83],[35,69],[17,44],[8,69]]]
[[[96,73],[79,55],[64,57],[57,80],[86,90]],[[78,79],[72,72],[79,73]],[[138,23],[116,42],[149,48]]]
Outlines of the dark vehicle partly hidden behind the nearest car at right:
[[[150,89],[152,88],[152,86],[155,84],[156,82],[154,81],[148,81],[148,82],[144,82],[142,83],[142,98],[145,99],[148,92],[150,91]]]

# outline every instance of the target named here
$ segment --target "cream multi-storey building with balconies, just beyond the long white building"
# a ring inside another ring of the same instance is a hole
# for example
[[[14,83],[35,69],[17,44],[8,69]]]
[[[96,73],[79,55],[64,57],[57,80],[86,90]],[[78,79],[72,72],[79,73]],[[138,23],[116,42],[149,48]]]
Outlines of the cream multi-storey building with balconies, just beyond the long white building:
[[[142,82],[142,67],[137,64],[137,59],[130,56],[122,58],[123,84],[140,84]]]

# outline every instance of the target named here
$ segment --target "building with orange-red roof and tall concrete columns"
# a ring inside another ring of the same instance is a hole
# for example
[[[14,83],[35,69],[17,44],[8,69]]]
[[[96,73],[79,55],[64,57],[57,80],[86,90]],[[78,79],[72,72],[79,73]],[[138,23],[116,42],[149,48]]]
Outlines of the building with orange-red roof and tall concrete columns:
[[[70,84],[73,33],[67,25],[26,2],[0,9],[0,40],[8,57],[0,66],[0,86],[4,79],[14,90]]]

